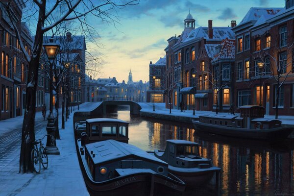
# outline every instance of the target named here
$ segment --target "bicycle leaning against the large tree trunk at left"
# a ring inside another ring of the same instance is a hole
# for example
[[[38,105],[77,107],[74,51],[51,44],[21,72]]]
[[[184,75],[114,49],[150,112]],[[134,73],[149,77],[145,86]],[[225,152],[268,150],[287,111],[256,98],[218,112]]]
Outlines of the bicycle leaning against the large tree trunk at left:
[[[42,139],[35,140],[35,142],[32,143],[34,145],[34,148],[31,151],[31,164],[32,164],[33,172],[36,172],[36,173],[40,173],[41,163],[44,169],[48,168],[48,155],[47,155],[45,147],[43,147],[43,144],[42,144],[42,140],[45,138],[45,136],[50,136],[50,135],[44,135]],[[40,144],[39,148],[38,148],[38,144]]]

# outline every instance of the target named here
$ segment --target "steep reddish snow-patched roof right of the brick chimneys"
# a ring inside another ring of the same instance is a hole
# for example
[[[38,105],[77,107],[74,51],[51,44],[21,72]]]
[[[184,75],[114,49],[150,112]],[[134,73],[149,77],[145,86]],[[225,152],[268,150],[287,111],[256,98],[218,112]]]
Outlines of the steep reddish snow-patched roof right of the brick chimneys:
[[[235,58],[235,40],[224,39],[221,42],[221,51],[213,57],[212,61],[221,59],[234,59]]]

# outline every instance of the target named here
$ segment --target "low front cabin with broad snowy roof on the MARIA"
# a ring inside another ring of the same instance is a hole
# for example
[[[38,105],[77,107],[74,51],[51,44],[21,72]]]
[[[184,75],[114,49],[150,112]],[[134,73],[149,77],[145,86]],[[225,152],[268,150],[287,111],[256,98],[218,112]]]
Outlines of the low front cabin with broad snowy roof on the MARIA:
[[[85,158],[96,182],[140,172],[168,175],[168,164],[164,161],[138,147],[115,140],[87,144]]]

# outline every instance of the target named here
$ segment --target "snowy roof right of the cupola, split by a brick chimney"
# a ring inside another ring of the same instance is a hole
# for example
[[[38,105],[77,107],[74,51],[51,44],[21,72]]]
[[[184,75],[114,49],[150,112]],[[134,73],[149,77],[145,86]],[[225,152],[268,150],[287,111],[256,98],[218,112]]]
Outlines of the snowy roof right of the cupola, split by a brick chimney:
[[[225,38],[235,39],[235,33],[232,31],[231,27],[212,27],[213,38],[215,40],[223,40]],[[198,27],[192,30],[184,42],[188,42],[197,38],[209,39],[208,27]]]

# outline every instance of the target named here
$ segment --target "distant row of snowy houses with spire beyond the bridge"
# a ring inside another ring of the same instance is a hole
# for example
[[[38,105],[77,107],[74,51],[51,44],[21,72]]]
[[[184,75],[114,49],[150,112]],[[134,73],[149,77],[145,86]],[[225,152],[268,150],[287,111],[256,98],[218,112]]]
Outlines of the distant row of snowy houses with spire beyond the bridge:
[[[133,81],[132,72],[129,72],[128,81],[125,83],[118,82],[116,77],[113,78],[98,78],[93,79],[90,75],[86,81],[89,91],[89,101],[103,101],[103,100],[132,100],[136,102],[146,102],[148,82],[143,83]]]

